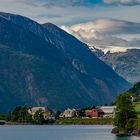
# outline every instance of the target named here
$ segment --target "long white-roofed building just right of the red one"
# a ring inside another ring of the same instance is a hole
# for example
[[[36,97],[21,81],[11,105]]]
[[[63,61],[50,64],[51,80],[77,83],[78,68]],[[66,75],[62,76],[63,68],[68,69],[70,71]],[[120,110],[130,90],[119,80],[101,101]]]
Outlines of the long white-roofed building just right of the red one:
[[[104,112],[105,118],[113,118],[116,111],[116,106],[101,106],[100,109]]]

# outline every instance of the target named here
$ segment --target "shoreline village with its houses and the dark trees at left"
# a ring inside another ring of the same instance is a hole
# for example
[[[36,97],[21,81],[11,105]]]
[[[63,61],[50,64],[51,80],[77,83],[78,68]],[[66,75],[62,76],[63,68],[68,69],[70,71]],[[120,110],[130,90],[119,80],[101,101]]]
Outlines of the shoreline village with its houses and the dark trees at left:
[[[31,123],[31,124],[61,124],[59,120],[96,120],[111,119],[115,116],[116,106],[98,106],[84,109],[68,108],[63,112],[53,111],[47,106],[44,107],[16,107],[0,124]],[[99,122],[100,123],[100,122]]]

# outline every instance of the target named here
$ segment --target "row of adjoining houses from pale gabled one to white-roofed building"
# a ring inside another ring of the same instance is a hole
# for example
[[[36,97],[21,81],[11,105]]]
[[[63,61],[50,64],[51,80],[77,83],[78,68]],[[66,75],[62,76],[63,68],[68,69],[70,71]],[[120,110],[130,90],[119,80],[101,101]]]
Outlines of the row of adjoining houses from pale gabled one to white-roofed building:
[[[116,106],[101,106],[94,109],[80,110],[67,109],[60,114],[60,118],[113,118],[115,115]]]

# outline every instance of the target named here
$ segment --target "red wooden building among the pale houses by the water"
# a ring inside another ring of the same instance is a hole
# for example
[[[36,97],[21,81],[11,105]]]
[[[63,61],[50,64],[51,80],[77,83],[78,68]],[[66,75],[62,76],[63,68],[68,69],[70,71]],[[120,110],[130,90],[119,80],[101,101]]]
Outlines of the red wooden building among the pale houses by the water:
[[[86,110],[85,114],[86,114],[86,117],[89,117],[89,118],[98,118],[98,117],[103,117],[104,112],[101,109],[96,108],[92,110]]]

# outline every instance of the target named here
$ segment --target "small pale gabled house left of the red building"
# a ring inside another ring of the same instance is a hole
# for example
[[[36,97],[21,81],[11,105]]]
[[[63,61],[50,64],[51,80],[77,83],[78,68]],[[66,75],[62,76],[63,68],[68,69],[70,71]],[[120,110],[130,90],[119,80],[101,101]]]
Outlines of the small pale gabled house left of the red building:
[[[68,108],[63,113],[60,114],[60,118],[73,118],[76,117],[76,109]]]

